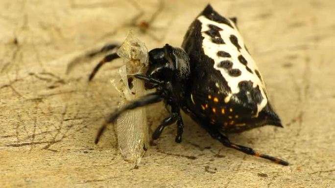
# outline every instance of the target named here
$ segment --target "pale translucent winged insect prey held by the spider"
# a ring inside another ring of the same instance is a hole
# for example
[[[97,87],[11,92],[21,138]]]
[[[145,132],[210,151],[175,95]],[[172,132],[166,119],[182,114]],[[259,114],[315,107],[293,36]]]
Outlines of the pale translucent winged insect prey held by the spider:
[[[144,73],[148,64],[148,51],[145,44],[134,37],[130,31],[117,53],[125,64],[119,69],[121,82],[115,80],[113,82],[123,99],[119,105],[122,107],[145,94],[144,83],[137,79],[130,79],[128,75]],[[117,134],[123,159],[139,164],[149,146],[145,108],[123,113],[117,120]]]

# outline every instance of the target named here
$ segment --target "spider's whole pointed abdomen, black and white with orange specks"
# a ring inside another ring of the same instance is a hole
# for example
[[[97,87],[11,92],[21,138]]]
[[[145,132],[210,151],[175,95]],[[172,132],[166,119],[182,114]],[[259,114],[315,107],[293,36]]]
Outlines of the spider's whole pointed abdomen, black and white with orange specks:
[[[281,126],[234,19],[207,6],[191,24],[182,47],[190,56],[189,105],[194,113],[233,132]]]

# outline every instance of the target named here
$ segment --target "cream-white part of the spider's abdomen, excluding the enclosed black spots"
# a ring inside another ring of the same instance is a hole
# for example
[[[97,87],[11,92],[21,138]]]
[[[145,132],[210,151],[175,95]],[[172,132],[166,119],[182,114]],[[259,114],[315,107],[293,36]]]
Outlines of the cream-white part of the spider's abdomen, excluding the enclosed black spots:
[[[244,42],[239,34],[239,31],[237,30],[235,24],[233,21],[230,21],[230,23],[234,26],[234,29],[231,28],[230,26],[224,24],[224,23],[217,23],[215,21],[211,21],[207,19],[205,16],[199,16],[197,18],[201,22],[201,35],[204,37],[204,40],[202,41],[202,48],[204,50],[205,55],[210,57],[211,59],[214,60],[214,68],[218,71],[221,72],[222,76],[224,79],[227,81],[228,86],[230,87],[232,93],[231,94],[236,94],[239,93],[239,82],[241,81],[251,81],[253,83],[253,87],[257,87],[257,85],[260,88],[261,94],[263,96],[263,100],[260,104],[257,104],[257,114],[256,117],[258,116],[258,113],[262,111],[262,109],[265,107],[267,104],[267,98],[264,92],[265,90],[265,85],[262,80],[258,78],[258,76],[255,73],[255,70],[258,70],[257,65],[255,61],[252,59],[250,54],[247,52],[247,50],[244,47]],[[207,35],[205,32],[210,30],[208,27],[209,24],[216,25],[223,29],[222,31],[219,31],[221,38],[225,42],[225,44],[216,44],[212,42],[211,36]],[[239,46],[241,47],[240,51],[238,51],[237,47],[230,41],[229,37],[231,35],[235,35],[238,39]],[[231,55],[231,57],[219,57],[217,55],[218,51],[225,51]],[[253,73],[250,73],[247,71],[246,67],[244,64],[239,62],[239,55],[242,55],[245,60],[247,61],[247,66],[253,71]],[[229,75],[228,70],[223,67],[219,67],[219,63],[224,60],[229,60],[233,62],[233,67],[232,69],[239,69],[241,71],[241,75],[237,77],[233,77]],[[228,94],[228,96],[231,96]],[[225,99],[229,102],[230,97]]]

